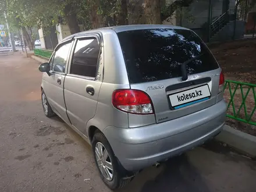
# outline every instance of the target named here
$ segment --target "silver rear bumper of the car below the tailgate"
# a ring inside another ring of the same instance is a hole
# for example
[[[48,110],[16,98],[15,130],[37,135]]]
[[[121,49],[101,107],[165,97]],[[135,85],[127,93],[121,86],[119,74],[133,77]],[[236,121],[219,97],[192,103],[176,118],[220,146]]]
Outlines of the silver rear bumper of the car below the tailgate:
[[[218,134],[225,123],[226,103],[168,122],[104,130],[113,152],[126,170],[139,170],[196,147]]]

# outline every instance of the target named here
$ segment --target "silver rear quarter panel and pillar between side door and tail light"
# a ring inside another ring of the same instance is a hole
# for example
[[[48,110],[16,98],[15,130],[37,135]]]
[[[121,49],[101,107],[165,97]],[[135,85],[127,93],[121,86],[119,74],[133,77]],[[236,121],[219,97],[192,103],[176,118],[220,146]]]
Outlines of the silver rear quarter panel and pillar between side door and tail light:
[[[103,131],[108,126],[128,128],[128,114],[119,111],[112,105],[112,93],[118,89],[129,89],[129,79],[125,60],[116,32],[102,31],[103,72],[101,90],[99,92],[97,109],[93,119],[87,122],[87,133],[91,126]],[[88,135],[88,134],[87,134]]]

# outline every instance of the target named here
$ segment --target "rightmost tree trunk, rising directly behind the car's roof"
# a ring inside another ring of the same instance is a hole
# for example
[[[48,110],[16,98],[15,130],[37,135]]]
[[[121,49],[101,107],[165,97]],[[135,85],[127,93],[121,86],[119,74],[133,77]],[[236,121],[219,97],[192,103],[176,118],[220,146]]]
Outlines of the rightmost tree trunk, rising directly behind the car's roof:
[[[162,24],[161,2],[159,0],[145,0],[145,15],[147,24]]]

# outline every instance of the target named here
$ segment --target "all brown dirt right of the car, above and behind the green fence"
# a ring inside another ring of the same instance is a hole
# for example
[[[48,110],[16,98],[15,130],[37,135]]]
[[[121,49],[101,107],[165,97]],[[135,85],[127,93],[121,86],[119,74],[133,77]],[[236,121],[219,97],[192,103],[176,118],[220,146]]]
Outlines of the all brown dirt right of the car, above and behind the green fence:
[[[255,84],[254,93],[256,93],[256,38],[211,45],[210,48],[223,69],[225,79]],[[229,86],[232,89],[231,93]],[[225,99],[227,102],[230,101],[236,84],[230,83],[229,86],[225,90]],[[256,123],[256,112],[253,112],[256,109],[256,97],[254,98],[253,88],[248,91],[250,86],[243,85],[243,95],[241,94],[240,86],[237,88],[233,97],[234,110],[231,104],[229,109],[227,109],[227,113],[233,116],[235,113],[237,118],[241,119],[246,119],[247,113],[247,117],[251,116],[250,121]],[[246,109],[243,105],[240,113],[237,113],[243,102],[243,96],[246,97],[247,91],[248,95],[245,99]],[[236,129],[256,136],[256,126],[233,119],[227,119],[227,123]]]

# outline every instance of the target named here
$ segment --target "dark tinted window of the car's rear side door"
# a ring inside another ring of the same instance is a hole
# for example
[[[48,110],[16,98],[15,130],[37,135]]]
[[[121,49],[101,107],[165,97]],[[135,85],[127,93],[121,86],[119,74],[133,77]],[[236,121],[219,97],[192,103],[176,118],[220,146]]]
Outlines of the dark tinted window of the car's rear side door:
[[[70,73],[96,77],[99,50],[100,47],[95,38],[77,40]]]

